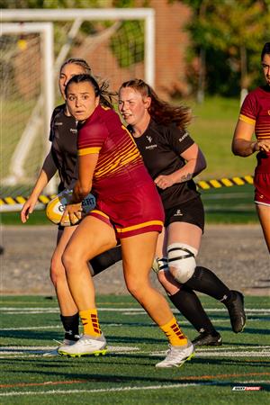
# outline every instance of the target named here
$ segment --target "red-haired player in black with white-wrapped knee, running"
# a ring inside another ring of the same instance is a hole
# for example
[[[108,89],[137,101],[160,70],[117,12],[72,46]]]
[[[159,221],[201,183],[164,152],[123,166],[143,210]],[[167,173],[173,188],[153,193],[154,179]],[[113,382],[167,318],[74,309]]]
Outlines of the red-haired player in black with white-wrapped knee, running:
[[[165,229],[157,241],[158,280],[175,307],[200,332],[193,344],[218,346],[220,334],[193,290],[226,305],[235,333],[244,329],[246,316],[243,295],[229,290],[208,268],[196,266],[204,211],[192,179],[206,163],[200,148],[185,130],[190,111],[163,102],[139,79],[121,85],[119,110],[157,184],[166,213]]]

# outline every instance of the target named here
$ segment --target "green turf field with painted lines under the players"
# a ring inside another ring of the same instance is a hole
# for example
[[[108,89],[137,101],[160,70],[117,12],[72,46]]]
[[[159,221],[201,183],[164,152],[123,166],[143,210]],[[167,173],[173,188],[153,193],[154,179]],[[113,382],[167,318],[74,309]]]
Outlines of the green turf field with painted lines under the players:
[[[97,298],[109,351],[100,357],[44,357],[61,340],[55,298],[2,296],[1,404],[266,404],[270,391],[268,297],[247,297],[247,327],[234,334],[227,311],[202,297],[223,346],[200,348],[181,368],[155,369],[166,339],[129,296]],[[184,332],[196,332],[178,318]],[[241,391],[233,390],[233,387]],[[245,389],[246,387],[246,389]],[[261,387],[260,391],[247,391]],[[244,391],[245,390],[245,391]]]

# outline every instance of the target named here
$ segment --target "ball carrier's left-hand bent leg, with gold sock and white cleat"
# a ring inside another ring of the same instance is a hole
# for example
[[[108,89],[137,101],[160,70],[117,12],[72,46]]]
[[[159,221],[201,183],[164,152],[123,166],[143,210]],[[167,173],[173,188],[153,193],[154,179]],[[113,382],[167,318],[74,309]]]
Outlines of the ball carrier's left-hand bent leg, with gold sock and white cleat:
[[[110,225],[85,217],[70,238],[62,261],[67,272],[67,283],[79,310],[84,334],[72,347],[61,347],[59,354],[67,356],[98,355],[106,352],[106,340],[99,326],[94,300],[94,284],[88,261],[116,245]]]

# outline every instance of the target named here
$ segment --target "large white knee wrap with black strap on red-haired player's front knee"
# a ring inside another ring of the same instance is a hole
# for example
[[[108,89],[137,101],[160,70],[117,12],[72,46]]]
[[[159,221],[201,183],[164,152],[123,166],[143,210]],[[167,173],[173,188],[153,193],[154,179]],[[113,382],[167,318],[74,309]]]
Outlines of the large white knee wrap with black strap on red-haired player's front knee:
[[[185,243],[172,243],[167,247],[169,270],[177,282],[184,284],[193,276],[197,253],[197,249]]]

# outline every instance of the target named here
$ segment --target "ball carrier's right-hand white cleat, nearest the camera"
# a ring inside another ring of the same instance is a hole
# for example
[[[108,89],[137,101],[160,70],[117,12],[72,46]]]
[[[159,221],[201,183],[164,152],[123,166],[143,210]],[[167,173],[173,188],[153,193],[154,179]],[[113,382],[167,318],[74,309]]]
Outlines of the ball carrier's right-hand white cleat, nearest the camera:
[[[169,345],[166,358],[157,363],[157,368],[169,368],[169,367],[181,367],[184,362],[190,360],[194,356],[194,347],[191,342],[188,342],[186,346],[172,346]]]

